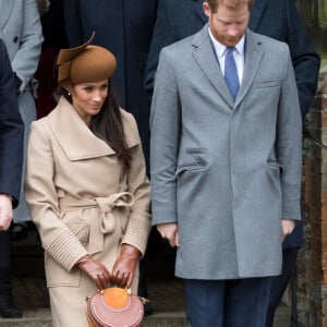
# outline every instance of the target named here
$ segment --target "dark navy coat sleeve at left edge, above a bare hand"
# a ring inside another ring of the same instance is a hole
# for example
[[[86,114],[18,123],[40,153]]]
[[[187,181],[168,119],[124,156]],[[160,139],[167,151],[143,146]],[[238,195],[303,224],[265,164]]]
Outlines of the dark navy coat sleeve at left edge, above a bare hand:
[[[19,204],[24,124],[19,111],[14,76],[5,46],[0,39],[0,194],[14,197]]]

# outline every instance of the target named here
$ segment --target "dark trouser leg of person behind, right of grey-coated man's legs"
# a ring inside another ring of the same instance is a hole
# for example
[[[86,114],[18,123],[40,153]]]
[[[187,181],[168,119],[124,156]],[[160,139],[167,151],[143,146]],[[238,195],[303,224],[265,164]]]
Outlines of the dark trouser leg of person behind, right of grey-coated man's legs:
[[[298,257],[299,250],[300,247],[291,247],[291,249],[282,250],[281,275],[271,278],[271,288],[270,288],[266,327],[274,326],[275,312],[280,303],[284,290],[290,281],[292,271],[296,265],[296,257]]]

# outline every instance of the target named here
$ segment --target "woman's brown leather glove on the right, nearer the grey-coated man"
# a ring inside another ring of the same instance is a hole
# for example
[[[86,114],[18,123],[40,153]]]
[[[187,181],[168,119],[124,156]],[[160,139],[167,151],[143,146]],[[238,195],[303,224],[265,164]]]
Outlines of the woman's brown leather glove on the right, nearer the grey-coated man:
[[[130,288],[134,280],[141,252],[136,247],[122,244],[120,256],[112,268],[111,283],[122,288]]]

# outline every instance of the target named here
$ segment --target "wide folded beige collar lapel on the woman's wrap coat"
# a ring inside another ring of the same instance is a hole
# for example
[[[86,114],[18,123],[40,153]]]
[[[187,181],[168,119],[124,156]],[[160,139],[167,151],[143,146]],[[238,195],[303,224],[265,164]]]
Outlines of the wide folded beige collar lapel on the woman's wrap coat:
[[[50,129],[70,160],[81,160],[114,154],[106,142],[96,137],[73,107],[61,97],[48,116]]]

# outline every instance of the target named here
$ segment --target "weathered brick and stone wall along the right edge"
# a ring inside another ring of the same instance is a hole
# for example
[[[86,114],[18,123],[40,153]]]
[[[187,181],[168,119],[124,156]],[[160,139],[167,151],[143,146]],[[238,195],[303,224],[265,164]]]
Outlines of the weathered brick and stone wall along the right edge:
[[[311,113],[311,135],[327,145],[327,73],[322,73]],[[327,150],[304,140],[303,219],[305,245],[299,255],[299,327],[327,326]]]

